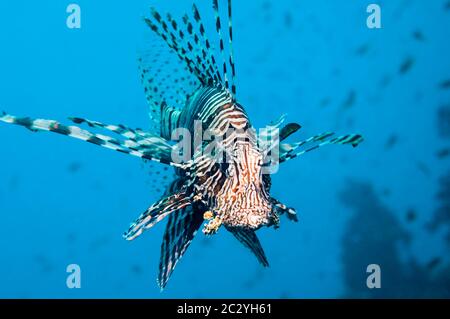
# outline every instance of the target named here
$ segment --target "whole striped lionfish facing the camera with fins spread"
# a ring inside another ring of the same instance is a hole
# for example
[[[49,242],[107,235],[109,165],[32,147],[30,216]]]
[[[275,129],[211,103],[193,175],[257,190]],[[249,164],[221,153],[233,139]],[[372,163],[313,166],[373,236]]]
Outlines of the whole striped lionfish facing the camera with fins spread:
[[[138,59],[154,125],[151,130],[78,117],[69,118],[75,125],[64,125],[55,120],[15,117],[4,112],[0,115],[0,121],[33,132],[59,133],[174,167],[176,178],[162,198],[145,210],[124,234],[125,239],[133,240],[167,217],[157,279],[161,289],[202,224],[206,235],[215,234],[224,226],[267,267],[269,263],[255,231],[262,226],[277,228],[283,214],[293,221],[297,221],[297,215],[293,208],[270,196],[271,177],[266,168],[272,162],[281,164],[327,144],[356,147],[363,140],[358,134],[335,137],[327,132],[297,143],[281,143],[301,128],[296,123],[282,127],[284,117],[256,134],[244,107],[236,99],[231,0],[227,5],[229,42],[225,45],[222,12],[218,0],[212,0],[218,50],[210,42],[195,4],[191,15],[184,15],[180,21],[170,14],[164,17],[154,8],[144,18],[160,41],[158,50],[150,50],[150,54],[142,54]],[[162,54],[161,50],[168,54]],[[96,134],[81,125],[110,131],[116,137]],[[223,153],[205,155],[208,146],[204,142],[195,146],[193,141],[190,156],[179,160],[181,150],[172,139],[177,128],[185,128],[194,135],[198,129],[209,130],[215,137],[221,137],[216,148],[226,153],[226,160]],[[266,147],[264,139],[270,140],[275,132],[278,142]],[[276,160],[269,153],[276,153]]]

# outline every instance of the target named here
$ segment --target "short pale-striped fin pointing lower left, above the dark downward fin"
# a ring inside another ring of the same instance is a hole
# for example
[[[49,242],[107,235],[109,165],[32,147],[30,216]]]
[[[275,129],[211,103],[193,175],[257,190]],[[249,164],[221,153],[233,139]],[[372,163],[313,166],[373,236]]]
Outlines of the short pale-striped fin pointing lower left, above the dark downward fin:
[[[191,198],[184,192],[163,197],[150,206],[139,218],[130,225],[123,237],[126,240],[133,240],[145,229],[153,227],[167,215],[191,205]]]

